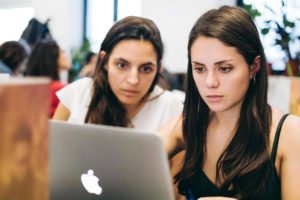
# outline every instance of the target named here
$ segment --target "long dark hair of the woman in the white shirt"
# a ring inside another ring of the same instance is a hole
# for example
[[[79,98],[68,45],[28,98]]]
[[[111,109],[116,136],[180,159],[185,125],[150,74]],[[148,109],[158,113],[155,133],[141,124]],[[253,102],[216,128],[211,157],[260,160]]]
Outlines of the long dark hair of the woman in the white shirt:
[[[93,96],[88,108],[85,122],[115,126],[128,126],[129,119],[126,118],[126,111],[117,97],[111,90],[108,83],[107,71],[104,65],[108,62],[113,48],[122,40],[145,40],[151,42],[157,54],[157,74],[150,86],[149,94],[157,84],[161,59],[163,56],[163,43],[160,32],[153,21],[129,16],[116,22],[106,34],[101,51],[105,51],[105,56],[98,59],[97,67],[93,79]]]

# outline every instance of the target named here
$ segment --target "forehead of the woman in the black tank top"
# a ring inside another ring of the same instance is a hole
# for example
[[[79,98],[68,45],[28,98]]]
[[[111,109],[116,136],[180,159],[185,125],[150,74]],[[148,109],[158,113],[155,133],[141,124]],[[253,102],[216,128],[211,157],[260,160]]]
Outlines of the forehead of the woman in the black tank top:
[[[217,38],[200,36],[191,46],[192,61],[244,60],[235,47],[225,45]]]

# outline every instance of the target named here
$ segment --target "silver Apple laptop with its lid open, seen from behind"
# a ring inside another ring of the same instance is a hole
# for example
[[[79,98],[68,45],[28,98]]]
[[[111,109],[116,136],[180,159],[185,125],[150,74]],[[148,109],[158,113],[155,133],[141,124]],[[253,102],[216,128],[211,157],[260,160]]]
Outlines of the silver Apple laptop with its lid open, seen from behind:
[[[50,199],[173,200],[159,137],[50,120]]]

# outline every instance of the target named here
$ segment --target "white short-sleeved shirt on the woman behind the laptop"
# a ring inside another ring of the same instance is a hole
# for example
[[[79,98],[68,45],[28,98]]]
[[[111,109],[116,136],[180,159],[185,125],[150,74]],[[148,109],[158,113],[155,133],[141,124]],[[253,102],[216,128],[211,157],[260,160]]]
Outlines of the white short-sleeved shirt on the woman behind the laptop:
[[[91,78],[79,79],[58,91],[60,102],[70,111],[68,122],[84,123],[92,97],[93,82]],[[156,97],[156,98],[154,98]],[[134,128],[158,131],[168,120],[182,112],[183,104],[174,94],[155,86],[148,101],[131,120]]]

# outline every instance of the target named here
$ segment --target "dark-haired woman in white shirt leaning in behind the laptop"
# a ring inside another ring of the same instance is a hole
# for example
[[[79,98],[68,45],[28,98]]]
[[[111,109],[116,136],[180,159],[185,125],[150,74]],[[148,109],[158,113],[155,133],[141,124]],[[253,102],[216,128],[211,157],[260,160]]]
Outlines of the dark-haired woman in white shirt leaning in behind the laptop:
[[[93,79],[82,78],[57,95],[54,119],[157,131],[182,103],[156,85],[163,44],[149,19],[126,17],[102,42]]]

